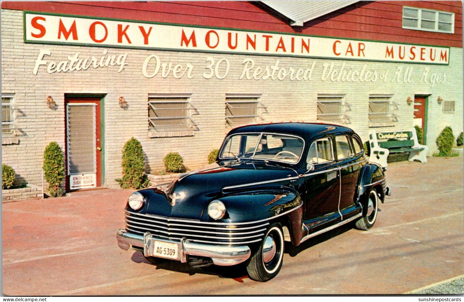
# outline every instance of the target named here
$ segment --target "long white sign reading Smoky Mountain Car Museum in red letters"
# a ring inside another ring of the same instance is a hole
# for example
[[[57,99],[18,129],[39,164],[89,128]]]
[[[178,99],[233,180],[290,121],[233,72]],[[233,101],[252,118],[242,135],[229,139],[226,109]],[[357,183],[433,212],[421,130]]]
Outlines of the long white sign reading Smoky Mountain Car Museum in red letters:
[[[449,64],[450,48],[24,12],[24,41],[152,50]]]

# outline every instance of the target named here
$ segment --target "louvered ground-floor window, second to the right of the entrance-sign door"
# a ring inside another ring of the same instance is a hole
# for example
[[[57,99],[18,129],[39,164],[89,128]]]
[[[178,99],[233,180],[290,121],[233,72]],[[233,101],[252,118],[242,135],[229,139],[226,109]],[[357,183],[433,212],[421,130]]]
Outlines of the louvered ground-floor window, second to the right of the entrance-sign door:
[[[262,120],[264,105],[257,94],[226,94],[226,125],[236,127]]]

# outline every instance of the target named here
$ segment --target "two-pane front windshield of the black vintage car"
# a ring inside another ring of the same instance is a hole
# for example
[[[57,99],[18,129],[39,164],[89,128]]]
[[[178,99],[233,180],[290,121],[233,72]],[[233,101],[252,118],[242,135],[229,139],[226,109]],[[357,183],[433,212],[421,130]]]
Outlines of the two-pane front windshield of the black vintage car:
[[[235,134],[226,139],[219,157],[273,159],[294,164],[299,161],[303,146],[302,138],[284,134]]]

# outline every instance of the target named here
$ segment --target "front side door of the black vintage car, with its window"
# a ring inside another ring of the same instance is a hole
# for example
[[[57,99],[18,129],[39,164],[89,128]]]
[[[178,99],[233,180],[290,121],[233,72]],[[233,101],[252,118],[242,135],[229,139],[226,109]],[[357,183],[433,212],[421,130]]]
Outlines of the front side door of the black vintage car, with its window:
[[[315,232],[336,220],[340,196],[340,179],[334,157],[333,138],[316,139],[309,147],[307,164],[314,170],[303,177],[304,224],[309,233]]]

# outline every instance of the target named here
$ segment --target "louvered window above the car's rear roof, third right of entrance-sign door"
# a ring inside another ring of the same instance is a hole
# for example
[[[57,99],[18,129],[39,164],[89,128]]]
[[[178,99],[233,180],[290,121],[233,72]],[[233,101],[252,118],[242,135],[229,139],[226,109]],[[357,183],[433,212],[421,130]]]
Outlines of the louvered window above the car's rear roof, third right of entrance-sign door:
[[[350,124],[350,106],[345,102],[344,94],[318,94],[317,95],[317,120]]]

